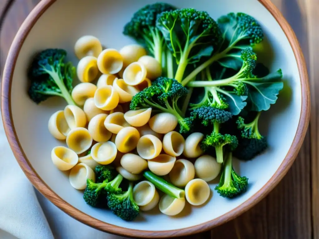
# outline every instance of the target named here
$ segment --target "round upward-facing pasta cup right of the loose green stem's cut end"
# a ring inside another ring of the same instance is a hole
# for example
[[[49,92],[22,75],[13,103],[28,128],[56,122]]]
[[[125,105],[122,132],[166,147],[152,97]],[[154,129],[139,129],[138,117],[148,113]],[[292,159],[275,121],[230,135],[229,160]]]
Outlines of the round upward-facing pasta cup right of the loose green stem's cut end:
[[[190,180],[185,186],[185,197],[189,204],[199,206],[204,204],[211,194],[209,185],[200,178]]]

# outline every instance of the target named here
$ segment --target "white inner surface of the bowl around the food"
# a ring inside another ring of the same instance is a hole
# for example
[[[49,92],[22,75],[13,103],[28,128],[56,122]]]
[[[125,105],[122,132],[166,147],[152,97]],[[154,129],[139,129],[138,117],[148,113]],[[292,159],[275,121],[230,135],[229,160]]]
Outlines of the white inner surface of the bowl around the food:
[[[213,18],[228,12],[242,11],[260,21],[266,40],[260,61],[267,63],[271,70],[281,68],[286,83],[291,88],[289,101],[279,97],[277,105],[264,113],[261,119],[262,133],[267,133],[269,150],[247,163],[236,162],[240,174],[249,178],[249,190],[241,197],[228,200],[215,191],[216,184],[210,184],[212,198],[202,207],[189,207],[175,217],[160,214],[158,208],[141,213],[136,221],[125,222],[109,211],[87,206],[83,192],[71,187],[68,175],[59,171],[51,162],[51,149],[63,142],[53,138],[48,131],[48,120],[57,110],[63,110],[65,102],[51,98],[41,105],[34,104],[27,96],[26,69],[34,52],[48,47],[68,50],[68,58],[77,65],[73,53],[76,40],[82,35],[92,34],[105,47],[120,49],[133,43],[122,35],[124,24],[138,8],[156,0],[57,0],[39,18],[21,48],[14,70],[11,88],[11,106],[14,127],[26,157],[42,180],[62,199],[80,211],[110,224],[139,230],[171,230],[186,228],[213,220],[233,210],[259,191],[273,176],[285,158],[293,141],[301,110],[300,77],[293,50],[286,35],[270,12],[256,0],[167,0],[177,7],[194,7],[205,10]],[[269,45],[268,45],[268,43]],[[78,83],[78,81],[76,81]]]

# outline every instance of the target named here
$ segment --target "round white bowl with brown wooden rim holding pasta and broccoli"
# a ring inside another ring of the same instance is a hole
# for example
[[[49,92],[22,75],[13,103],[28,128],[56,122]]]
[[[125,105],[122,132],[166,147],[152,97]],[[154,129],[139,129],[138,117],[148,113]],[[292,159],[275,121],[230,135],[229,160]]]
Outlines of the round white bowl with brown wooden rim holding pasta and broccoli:
[[[284,177],[304,140],[309,122],[310,97],[305,60],[293,30],[270,0],[167,0],[178,7],[208,11],[213,18],[228,12],[245,12],[262,25],[266,40],[259,59],[271,69],[281,68],[291,94],[279,95],[262,119],[270,148],[251,162],[240,163],[241,175],[249,178],[248,192],[227,200],[210,184],[212,197],[203,207],[187,207],[183,215],[168,217],[142,213],[125,222],[109,211],[89,207],[83,192],[71,187],[68,175],[54,167],[51,149],[63,142],[48,132],[48,119],[63,109],[62,99],[51,98],[35,105],[27,96],[26,68],[35,51],[48,47],[73,53],[76,40],[86,34],[98,37],[106,47],[119,49],[133,41],[122,35],[123,25],[139,7],[155,0],[42,0],[17,33],[5,64],[1,89],[4,129],[11,149],[31,183],[65,213],[89,226],[131,237],[171,237],[199,233],[229,221],[265,197]]]

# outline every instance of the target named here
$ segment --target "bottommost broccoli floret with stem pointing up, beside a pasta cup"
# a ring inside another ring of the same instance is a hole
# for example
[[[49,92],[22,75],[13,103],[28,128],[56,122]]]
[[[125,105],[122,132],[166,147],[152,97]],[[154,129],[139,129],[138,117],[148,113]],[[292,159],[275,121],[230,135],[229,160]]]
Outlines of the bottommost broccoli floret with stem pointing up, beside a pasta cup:
[[[133,199],[133,184],[122,194],[108,194],[108,207],[113,214],[125,221],[133,221],[139,214],[139,207]]]

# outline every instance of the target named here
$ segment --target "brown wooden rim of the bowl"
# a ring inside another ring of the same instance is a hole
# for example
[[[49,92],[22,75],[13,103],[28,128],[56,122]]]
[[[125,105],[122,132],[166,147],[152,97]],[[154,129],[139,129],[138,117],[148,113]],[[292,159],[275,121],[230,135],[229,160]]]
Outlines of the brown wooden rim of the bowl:
[[[255,206],[261,199],[263,199],[269,192],[271,192],[271,190],[280,182],[280,180],[290,169],[304,141],[310,119],[310,89],[308,82],[308,71],[297,37],[281,12],[273,3],[271,3],[270,0],[258,1],[263,4],[263,6],[271,13],[271,15],[276,19],[276,21],[279,23],[282,30],[286,34],[286,37],[289,40],[297,61],[301,84],[301,112],[293,142],[278,170],[258,192],[256,192],[253,196],[251,196],[249,199],[241,203],[233,210],[211,221],[207,221],[188,228],[166,231],[145,231],[111,225],[107,222],[100,221],[89,216],[88,214],[85,214],[84,212],[80,211],[79,209],[75,208],[74,206],[70,205],[62,198],[60,198],[41,179],[41,177],[39,177],[39,175],[33,169],[31,163],[28,161],[17,137],[11,112],[11,84],[20,49],[34,24],[48,8],[54,2],[56,2],[56,0],[42,0],[27,16],[11,44],[9,54],[4,65],[4,73],[1,82],[1,115],[4,125],[4,131],[16,160],[18,161],[21,169],[25,173],[26,177],[31,181],[33,186],[39,192],[41,192],[42,195],[49,199],[54,205],[56,205],[63,212],[70,215],[74,219],[101,231],[126,237],[164,238],[200,233],[226,223],[227,221],[234,219],[235,217],[249,210],[251,207]]]

